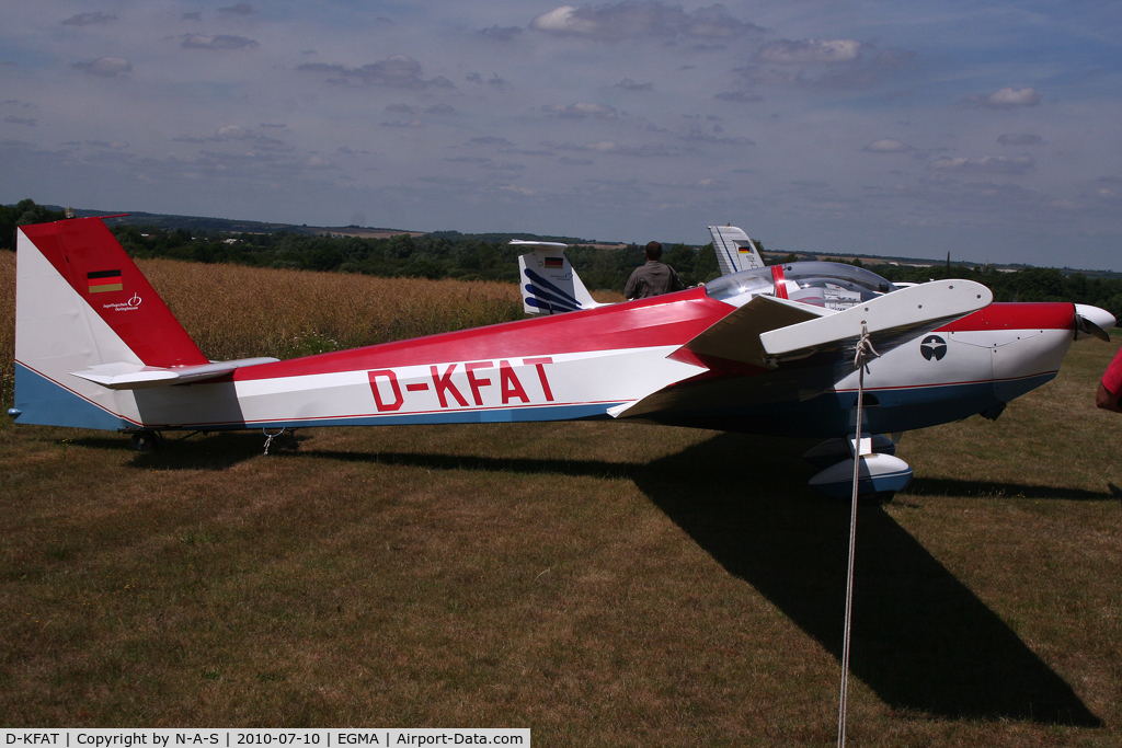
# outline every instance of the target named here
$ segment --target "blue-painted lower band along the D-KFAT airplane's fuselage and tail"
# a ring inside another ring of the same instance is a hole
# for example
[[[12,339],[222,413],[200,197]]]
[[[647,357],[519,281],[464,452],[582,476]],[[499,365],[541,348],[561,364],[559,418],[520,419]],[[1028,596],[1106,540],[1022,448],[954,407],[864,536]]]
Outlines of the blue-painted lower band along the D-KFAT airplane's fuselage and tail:
[[[1039,375],[1002,382],[977,382],[938,387],[876,389],[865,393],[862,431],[892,433],[926,428],[993,410],[1055,377]],[[706,410],[649,413],[642,421],[699,428],[780,436],[844,436],[855,427],[857,393],[828,391],[798,401],[733,403]],[[313,426],[390,426],[412,424],[528,423],[543,421],[607,419],[617,403],[555,405],[493,410],[442,410],[438,413],[355,416],[338,418],[277,419],[257,423],[145,424],[138,426],[90,403],[45,377],[16,364],[16,416],[19,424],[73,426],[102,431],[246,428],[307,428]]]

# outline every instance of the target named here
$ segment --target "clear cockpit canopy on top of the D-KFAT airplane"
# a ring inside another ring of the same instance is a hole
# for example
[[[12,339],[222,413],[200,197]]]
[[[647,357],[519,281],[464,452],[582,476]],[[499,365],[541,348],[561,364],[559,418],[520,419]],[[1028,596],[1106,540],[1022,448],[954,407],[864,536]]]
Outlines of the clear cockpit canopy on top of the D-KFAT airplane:
[[[741,270],[705,285],[711,298],[733,306],[744,306],[765,295],[828,310],[849,308],[895,289],[875,273],[840,262],[793,262]]]

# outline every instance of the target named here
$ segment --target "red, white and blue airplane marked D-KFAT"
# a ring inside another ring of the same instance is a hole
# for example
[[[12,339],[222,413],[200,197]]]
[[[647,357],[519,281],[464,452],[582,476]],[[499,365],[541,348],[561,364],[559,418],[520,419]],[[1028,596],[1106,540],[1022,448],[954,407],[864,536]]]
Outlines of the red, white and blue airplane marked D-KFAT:
[[[853,445],[863,334],[880,358],[864,379],[862,431],[882,434],[995,417],[1055,377],[1073,340],[1114,324],[1097,307],[991,304],[990,290],[969,280],[898,289],[830,262],[732,271],[674,294],[597,305],[563,246],[528,248],[519,265],[536,318],[286,361],[215,362],[100,219],[21,227],[9,414],[20,424],[146,438],[173,430],[616,418]],[[910,478],[902,461],[877,467],[880,456],[862,458],[871,464],[863,492],[896,490]]]

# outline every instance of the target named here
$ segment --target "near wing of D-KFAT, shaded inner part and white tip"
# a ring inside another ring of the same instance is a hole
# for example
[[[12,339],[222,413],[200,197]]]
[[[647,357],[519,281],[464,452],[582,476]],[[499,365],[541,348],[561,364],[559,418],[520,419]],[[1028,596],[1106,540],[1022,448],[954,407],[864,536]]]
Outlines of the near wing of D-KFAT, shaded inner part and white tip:
[[[992,301],[990,289],[972,280],[939,280],[901,288],[834,313],[757,296],[696,335],[670,358],[693,357],[710,373],[743,375],[800,366],[799,362],[815,357],[816,364],[834,362],[848,373],[854,370],[856,345],[865,332],[873,348],[885,353]],[[693,394],[681,385],[675,382],[608,413],[616,418],[640,417],[689,407]],[[821,379],[815,391],[800,393],[800,397],[812,397],[833,385],[833,379]]]

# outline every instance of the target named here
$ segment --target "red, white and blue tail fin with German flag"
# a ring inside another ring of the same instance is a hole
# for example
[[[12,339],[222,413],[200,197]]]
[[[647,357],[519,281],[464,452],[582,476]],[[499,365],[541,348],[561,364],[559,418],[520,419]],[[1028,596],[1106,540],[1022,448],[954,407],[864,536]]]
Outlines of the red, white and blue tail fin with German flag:
[[[131,393],[108,389],[74,372],[208,363],[101,219],[19,228],[17,423],[138,426]]]

